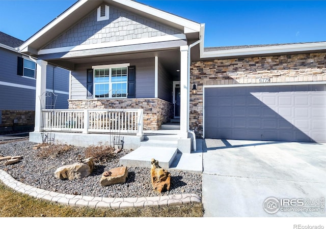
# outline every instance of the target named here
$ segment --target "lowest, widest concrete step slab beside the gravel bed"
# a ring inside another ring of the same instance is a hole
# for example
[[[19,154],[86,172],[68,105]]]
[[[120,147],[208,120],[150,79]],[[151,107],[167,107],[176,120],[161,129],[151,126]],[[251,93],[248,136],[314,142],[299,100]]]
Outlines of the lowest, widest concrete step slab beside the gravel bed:
[[[151,159],[158,161],[162,168],[170,168],[175,156],[178,153],[178,148],[173,147],[145,147],[141,146],[138,149],[128,153],[120,158],[122,166],[129,167],[151,167]]]

